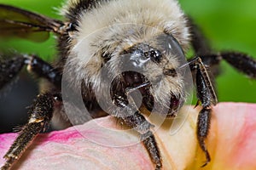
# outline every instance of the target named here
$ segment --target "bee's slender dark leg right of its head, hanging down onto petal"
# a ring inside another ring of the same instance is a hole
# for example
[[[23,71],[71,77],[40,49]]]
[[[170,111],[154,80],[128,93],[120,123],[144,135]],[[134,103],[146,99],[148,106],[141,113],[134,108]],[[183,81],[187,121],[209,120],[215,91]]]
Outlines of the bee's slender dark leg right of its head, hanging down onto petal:
[[[206,155],[207,161],[202,165],[202,167],[204,167],[209,161],[211,161],[205,140],[207,139],[210,129],[212,105],[217,104],[217,97],[201,58],[197,57],[192,59],[189,62],[189,65],[191,71],[195,71],[197,98],[201,101],[202,105],[202,110],[198,115],[197,121],[197,139],[201,150],[203,150]]]

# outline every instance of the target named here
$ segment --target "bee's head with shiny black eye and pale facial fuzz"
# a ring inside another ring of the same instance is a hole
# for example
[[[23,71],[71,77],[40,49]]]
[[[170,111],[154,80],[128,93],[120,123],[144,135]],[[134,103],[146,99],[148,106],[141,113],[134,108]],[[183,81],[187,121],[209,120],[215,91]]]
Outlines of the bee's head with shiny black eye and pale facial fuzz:
[[[139,89],[149,111],[159,105],[158,112],[175,116],[184,102],[184,74],[179,68],[186,63],[177,40],[160,34],[125,49],[122,57],[125,88]]]

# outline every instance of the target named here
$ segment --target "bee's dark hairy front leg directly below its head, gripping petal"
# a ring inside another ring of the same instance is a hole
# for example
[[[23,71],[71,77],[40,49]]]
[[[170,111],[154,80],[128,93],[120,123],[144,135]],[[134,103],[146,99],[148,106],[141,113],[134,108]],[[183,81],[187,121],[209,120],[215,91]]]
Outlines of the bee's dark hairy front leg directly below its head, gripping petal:
[[[109,113],[119,119],[119,122],[125,124],[128,127],[134,128],[137,133],[140,134],[143,144],[148,150],[148,155],[155,164],[155,170],[160,170],[162,167],[162,161],[160,156],[160,150],[158,148],[154,134],[152,133],[150,127],[154,127],[149,123],[140,111],[138,111],[136,106],[128,106],[127,101],[122,96],[116,96],[114,98],[114,103],[121,106],[121,109],[125,108],[125,112],[128,115],[123,114],[119,109],[115,111],[110,111]]]

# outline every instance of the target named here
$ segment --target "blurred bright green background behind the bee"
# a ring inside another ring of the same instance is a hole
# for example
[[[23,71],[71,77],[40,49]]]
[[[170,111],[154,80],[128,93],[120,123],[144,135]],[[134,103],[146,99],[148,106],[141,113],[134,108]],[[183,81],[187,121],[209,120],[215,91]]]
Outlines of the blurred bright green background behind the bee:
[[[57,8],[63,0],[0,0],[20,8],[60,19]],[[218,50],[236,49],[256,56],[256,1],[255,0],[180,0],[186,14],[194,18]],[[1,48],[12,48],[23,53],[34,53],[52,60],[55,40],[34,43],[23,40],[0,42]],[[250,80],[222,63],[223,74],[218,77],[218,100],[256,103],[256,81]]]

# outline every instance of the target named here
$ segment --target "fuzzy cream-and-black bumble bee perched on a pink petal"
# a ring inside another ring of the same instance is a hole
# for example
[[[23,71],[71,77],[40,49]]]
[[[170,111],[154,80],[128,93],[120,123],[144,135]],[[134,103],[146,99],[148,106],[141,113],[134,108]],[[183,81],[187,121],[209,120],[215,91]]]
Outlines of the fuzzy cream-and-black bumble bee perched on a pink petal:
[[[28,111],[28,122],[4,156],[2,169],[9,169],[49,122],[64,128],[88,121],[88,115],[107,114],[140,134],[155,169],[161,169],[154,125],[141,107],[160,116],[177,116],[192,81],[202,106],[197,139],[206,166],[211,158],[205,139],[212,106],[217,104],[206,65],[224,59],[255,78],[256,62],[241,53],[210,53],[205,38],[176,0],[69,0],[61,14],[64,20],[54,20],[0,5],[1,37],[44,41],[53,32],[58,42],[55,64],[29,54],[14,54],[0,63],[0,88],[25,65],[47,81]],[[187,60],[189,45],[197,57]]]

